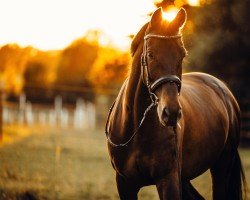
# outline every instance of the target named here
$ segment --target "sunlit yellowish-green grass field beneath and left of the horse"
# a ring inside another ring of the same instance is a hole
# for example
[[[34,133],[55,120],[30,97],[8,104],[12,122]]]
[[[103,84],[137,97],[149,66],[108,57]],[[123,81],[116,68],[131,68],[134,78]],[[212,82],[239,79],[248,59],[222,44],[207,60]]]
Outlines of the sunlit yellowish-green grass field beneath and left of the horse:
[[[25,137],[18,136],[22,132]],[[14,139],[0,147],[1,200],[118,199],[103,131],[6,127],[5,134]],[[250,149],[240,154],[250,182]],[[209,173],[193,183],[211,199]],[[159,198],[151,186],[140,191],[139,199]]]

